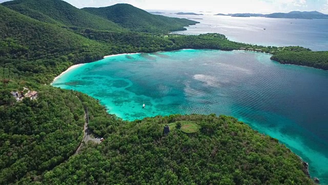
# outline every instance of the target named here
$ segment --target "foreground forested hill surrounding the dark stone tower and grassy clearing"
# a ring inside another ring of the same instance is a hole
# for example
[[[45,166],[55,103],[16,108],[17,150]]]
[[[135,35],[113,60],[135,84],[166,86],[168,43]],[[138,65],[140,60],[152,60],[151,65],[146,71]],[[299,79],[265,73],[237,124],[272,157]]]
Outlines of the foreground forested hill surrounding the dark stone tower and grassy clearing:
[[[192,134],[180,123],[197,125]],[[163,136],[163,126],[171,133]],[[98,127],[101,128],[101,127]],[[101,128],[103,129],[103,128]],[[147,118],[112,127],[106,141],[43,176],[46,184],[313,184],[300,159],[235,118]]]

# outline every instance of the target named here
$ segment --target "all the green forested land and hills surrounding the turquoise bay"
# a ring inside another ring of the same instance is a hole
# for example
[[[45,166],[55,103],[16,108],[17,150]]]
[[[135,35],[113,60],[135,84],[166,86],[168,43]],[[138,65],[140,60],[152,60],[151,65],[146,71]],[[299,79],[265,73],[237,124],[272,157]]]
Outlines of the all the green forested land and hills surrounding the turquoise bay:
[[[127,4],[78,9],[59,0],[2,3],[0,184],[314,183],[298,156],[235,118],[122,121],[97,100],[50,85],[68,67],[104,55],[185,48],[261,49],[284,64],[328,69],[327,51],[237,43],[217,33],[168,34],[196,23]],[[17,102],[10,92],[24,87],[37,91],[37,99]],[[93,136],[105,138],[101,144],[81,142],[86,117]],[[166,124],[171,133],[163,136]]]

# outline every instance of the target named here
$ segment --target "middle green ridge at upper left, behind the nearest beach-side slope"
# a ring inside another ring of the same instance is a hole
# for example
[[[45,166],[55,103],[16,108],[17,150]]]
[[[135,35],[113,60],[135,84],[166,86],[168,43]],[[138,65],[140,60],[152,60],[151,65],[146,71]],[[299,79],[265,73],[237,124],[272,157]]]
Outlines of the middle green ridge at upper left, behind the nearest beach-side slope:
[[[105,18],[82,11],[61,0],[14,0],[2,5],[42,22],[98,30],[122,30]]]

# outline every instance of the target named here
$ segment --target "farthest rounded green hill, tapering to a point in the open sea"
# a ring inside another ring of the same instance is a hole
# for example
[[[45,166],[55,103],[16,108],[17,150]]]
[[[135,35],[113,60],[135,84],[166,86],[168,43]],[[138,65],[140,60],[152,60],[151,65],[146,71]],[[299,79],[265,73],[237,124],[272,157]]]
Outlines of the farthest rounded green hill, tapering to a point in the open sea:
[[[133,31],[168,32],[186,30],[186,28],[183,28],[184,26],[197,23],[185,18],[154,15],[129,4],[116,4],[102,8],[83,8],[82,10],[107,18]]]

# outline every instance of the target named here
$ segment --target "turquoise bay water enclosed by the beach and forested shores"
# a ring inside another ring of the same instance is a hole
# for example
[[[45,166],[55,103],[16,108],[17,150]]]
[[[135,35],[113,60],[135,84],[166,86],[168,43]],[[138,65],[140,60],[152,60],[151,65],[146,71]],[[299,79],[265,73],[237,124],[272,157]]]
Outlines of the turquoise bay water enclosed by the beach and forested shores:
[[[126,120],[224,114],[286,144],[328,183],[328,72],[248,51],[127,54],[81,65],[53,86],[86,93]],[[142,104],[146,108],[142,109]]]

